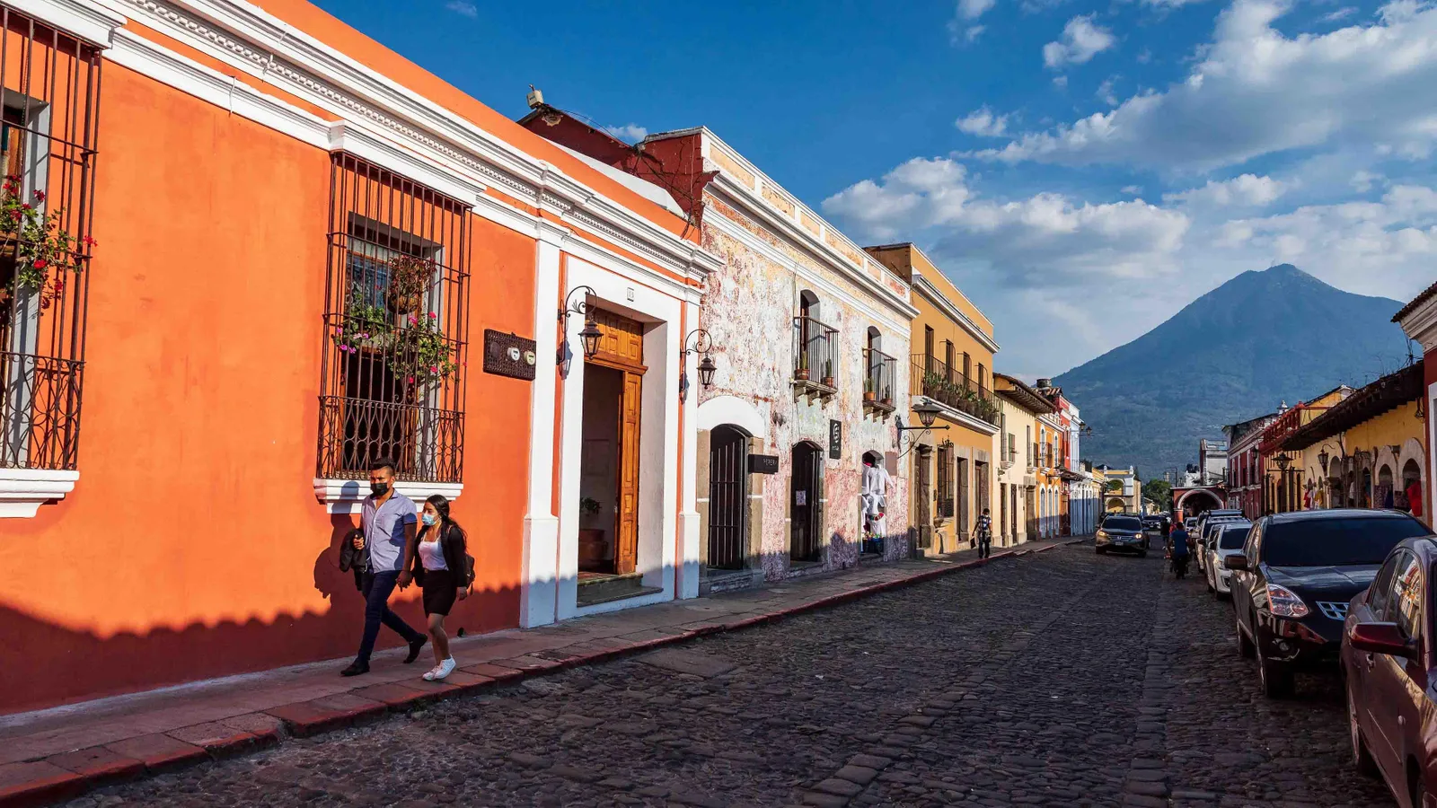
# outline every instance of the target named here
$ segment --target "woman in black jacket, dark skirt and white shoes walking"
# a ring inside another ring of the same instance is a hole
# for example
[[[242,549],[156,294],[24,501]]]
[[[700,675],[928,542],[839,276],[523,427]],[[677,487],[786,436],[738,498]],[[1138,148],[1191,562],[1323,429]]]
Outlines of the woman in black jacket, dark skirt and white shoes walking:
[[[456,663],[448,653],[444,618],[456,600],[468,597],[474,584],[464,529],[450,519],[448,508],[448,500],[440,495],[424,500],[421,516],[424,528],[418,536],[418,552],[414,554],[414,579],[424,589],[424,614],[430,620],[430,638],[434,640],[437,663],[434,670],[424,674],[430,681],[454,673]]]

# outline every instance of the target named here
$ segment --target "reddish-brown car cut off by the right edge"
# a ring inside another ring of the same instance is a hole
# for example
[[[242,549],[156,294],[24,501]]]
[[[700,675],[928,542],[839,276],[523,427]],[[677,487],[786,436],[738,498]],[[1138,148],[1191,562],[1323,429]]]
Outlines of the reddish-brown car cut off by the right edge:
[[[1407,539],[1342,627],[1352,758],[1404,808],[1437,808],[1437,536]]]

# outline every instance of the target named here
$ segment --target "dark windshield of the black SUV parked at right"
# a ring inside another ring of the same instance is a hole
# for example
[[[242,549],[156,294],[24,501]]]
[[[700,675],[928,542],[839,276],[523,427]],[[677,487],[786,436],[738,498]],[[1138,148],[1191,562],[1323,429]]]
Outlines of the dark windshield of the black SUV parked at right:
[[[1410,516],[1275,522],[1263,529],[1262,561],[1272,566],[1382,564],[1398,542],[1427,533],[1427,526]]]

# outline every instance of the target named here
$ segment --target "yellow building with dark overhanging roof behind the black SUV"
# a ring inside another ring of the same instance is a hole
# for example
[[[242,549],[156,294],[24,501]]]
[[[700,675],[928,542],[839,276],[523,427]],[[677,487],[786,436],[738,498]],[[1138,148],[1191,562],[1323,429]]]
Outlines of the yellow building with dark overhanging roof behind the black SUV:
[[[1407,490],[1427,487],[1427,436],[1418,413],[1418,361],[1334,404],[1288,436],[1288,485],[1298,506],[1408,509]],[[1426,503],[1423,503],[1426,505]],[[1431,509],[1420,506],[1431,525]]]

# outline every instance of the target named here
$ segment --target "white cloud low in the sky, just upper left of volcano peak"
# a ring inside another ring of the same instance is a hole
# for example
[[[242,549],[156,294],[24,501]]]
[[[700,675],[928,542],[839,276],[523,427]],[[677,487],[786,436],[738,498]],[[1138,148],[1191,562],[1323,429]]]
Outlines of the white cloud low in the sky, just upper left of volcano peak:
[[[1006,286],[1164,275],[1188,229],[1181,211],[1141,200],[1091,204],[1042,193],[997,201],[967,181],[953,160],[910,160],[879,183],[864,180],[823,200],[823,211],[865,237],[931,231],[937,250],[981,259]]]

